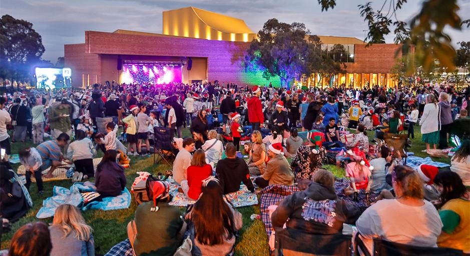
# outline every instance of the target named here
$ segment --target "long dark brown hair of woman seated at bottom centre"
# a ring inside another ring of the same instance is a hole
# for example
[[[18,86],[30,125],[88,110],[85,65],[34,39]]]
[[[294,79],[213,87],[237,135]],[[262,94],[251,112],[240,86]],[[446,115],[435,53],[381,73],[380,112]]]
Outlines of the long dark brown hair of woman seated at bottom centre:
[[[202,187],[201,197],[191,211],[191,221],[196,239],[202,244],[222,244],[225,238],[235,235],[233,212],[223,199],[219,182],[212,180]]]

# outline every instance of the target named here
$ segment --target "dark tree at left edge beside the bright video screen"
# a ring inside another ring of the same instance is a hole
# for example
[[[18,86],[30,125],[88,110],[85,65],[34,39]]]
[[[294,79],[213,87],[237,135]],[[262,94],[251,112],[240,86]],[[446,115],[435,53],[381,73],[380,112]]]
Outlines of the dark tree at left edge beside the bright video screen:
[[[27,80],[32,64],[42,62],[45,51],[41,35],[33,24],[11,15],[0,19],[0,76]]]

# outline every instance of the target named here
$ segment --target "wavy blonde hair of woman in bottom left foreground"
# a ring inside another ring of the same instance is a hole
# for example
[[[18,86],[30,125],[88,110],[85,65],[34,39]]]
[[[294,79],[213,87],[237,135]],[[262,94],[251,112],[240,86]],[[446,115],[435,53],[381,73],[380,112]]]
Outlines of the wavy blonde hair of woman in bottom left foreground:
[[[71,204],[61,204],[57,207],[53,224],[60,226],[64,231],[63,238],[73,232],[75,238],[88,241],[93,231],[92,227],[85,222],[79,208]]]

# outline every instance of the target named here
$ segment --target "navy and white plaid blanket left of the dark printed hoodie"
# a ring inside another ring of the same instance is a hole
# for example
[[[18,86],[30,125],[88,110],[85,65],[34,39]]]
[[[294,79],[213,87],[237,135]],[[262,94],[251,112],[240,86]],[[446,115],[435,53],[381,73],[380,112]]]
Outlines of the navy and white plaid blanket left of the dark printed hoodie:
[[[272,231],[272,224],[271,224],[271,219],[269,218],[269,205],[274,205],[280,202],[284,197],[287,195],[300,191],[300,189],[297,186],[294,185],[279,185],[279,184],[274,184],[274,185],[269,185],[265,188],[263,188],[261,191],[259,191],[259,194],[261,195],[260,197],[260,211],[261,211],[261,221],[264,223],[264,227],[266,229],[266,233],[268,234],[268,237],[271,236],[271,231]]]

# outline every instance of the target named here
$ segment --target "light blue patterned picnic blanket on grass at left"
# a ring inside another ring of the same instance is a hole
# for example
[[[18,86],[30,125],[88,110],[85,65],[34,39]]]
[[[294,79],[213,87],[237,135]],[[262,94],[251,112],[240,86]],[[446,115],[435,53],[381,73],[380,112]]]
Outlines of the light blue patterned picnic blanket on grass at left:
[[[46,198],[43,201],[43,207],[36,214],[37,218],[47,218],[54,216],[56,208],[64,203],[75,205],[82,210],[86,209],[102,209],[102,210],[116,210],[129,208],[131,204],[131,193],[127,188],[115,197],[104,197],[102,201],[93,201],[84,205],[81,192],[96,191],[91,185],[86,185],[82,182],[74,183],[70,188],[61,186],[54,186],[53,196]]]

